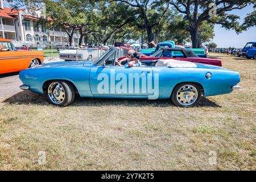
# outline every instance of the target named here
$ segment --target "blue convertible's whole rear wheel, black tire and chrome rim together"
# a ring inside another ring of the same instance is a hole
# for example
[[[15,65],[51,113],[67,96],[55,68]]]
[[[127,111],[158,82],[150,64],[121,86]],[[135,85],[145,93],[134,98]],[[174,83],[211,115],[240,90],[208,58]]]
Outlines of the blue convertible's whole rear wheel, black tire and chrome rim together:
[[[181,83],[175,86],[171,100],[178,107],[193,107],[201,98],[201,88],[194,83]]]

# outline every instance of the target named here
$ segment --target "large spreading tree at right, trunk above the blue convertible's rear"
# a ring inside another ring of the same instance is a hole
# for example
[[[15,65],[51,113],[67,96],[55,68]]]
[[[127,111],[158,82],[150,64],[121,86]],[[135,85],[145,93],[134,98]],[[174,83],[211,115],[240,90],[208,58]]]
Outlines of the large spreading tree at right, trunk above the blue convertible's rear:
[[[240,18],[237,15],[227,14],[232,10],[240,10],[255,0],[171,0],[170,5],[180,14],[183,14],[184,21],[187,22],[185,30],[189,31],[194,48],[200,46],[199,26],[201,22],[207,21],[212,24],[221,24],[222,27],[242,31],[238,23]]]

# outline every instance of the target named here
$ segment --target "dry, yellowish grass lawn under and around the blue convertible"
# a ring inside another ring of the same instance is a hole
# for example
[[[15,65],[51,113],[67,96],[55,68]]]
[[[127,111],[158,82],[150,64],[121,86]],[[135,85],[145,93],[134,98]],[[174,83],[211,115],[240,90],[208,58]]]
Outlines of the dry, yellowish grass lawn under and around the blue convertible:
[[[255,170],[256,60],[211,57],[241,73],[242,89],[194,108],[92,98],[57,107],[29,91],[0,98],[0,169]]]

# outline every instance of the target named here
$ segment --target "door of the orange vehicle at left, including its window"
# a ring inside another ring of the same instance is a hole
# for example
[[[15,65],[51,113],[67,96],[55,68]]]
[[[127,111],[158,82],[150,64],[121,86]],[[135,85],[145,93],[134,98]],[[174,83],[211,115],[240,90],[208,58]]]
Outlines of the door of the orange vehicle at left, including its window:
[[[0,42],[0,73],[15,72],[24,69],[24,58],[10,42]]]

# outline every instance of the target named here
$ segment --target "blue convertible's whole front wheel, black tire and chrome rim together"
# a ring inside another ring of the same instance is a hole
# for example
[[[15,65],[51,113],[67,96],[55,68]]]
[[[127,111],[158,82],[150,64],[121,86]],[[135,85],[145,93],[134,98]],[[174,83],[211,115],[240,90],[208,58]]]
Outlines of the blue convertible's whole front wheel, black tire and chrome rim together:
[[[67,106],[74,101],[75,89],[67,81],[53,80],[47,85],[46,96],[53,105]]]

